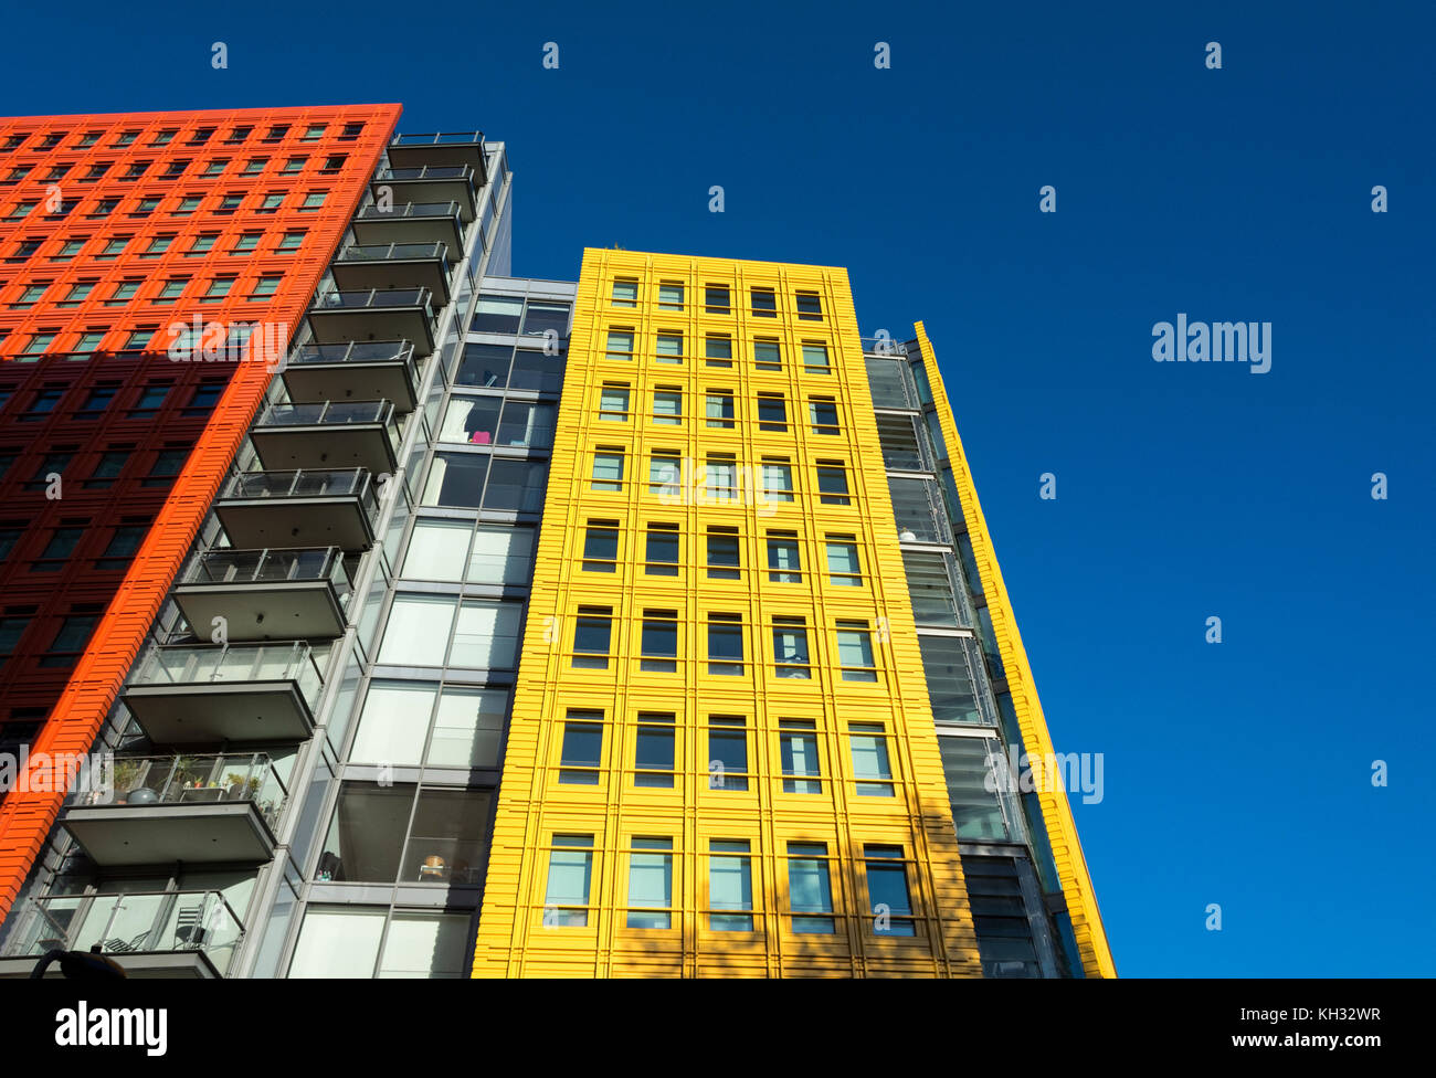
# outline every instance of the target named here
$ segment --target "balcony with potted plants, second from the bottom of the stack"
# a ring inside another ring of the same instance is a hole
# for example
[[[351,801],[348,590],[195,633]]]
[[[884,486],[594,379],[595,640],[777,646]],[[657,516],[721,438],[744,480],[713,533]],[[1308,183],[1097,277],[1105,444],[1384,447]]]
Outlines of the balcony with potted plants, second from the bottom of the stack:
[[[60,824],[95,864],[267,861],[289,800],[267,754],[116,756],[113,791],[70,794]]]

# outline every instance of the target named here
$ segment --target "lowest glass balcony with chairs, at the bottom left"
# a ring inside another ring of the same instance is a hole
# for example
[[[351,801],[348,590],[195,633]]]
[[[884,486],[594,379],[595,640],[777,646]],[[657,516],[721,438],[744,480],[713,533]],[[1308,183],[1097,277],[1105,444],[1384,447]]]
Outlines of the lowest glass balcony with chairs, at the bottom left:
[[[4,978],[29,976],[47,950],[96,946],[131,978],[223,978],[244,936],[220,891],[55,894],[19,909],[16,922],[0,957]]]

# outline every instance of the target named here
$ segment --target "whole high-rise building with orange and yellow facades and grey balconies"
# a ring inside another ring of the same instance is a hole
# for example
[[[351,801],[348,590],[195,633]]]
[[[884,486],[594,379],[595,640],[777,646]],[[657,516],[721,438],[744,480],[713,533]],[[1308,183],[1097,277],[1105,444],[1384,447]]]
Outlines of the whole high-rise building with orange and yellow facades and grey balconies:
[[[1113,975],[922,324],[396,122],[0,121],[0,976]]]

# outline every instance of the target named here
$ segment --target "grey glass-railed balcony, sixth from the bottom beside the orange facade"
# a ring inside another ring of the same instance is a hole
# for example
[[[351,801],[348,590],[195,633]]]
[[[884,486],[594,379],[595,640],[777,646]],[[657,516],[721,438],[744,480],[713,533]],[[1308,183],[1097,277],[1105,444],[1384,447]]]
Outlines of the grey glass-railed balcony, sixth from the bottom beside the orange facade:
[[[266,469],[366,468],[392,472],[399,421],[388,400],[271,403],[250,429]]]

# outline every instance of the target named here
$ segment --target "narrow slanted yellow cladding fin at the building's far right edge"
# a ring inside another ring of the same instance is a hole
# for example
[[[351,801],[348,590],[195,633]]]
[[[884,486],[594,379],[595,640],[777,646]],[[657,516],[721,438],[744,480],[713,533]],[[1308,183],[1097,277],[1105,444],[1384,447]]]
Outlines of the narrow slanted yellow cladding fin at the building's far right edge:
[[[1012,709],[1017,712],[1018,729],[1022,732],[1024,748],[1030,756],[1047,759],[1048,754],[1053,752],[1053,738],[1047,732],[1047,719],[1043,718],[1043,705],[1037,699],[1032,667],[1027,662],[1027,649],[1022,647],[1022,636],[1017,630],[1017,616],[1012,613],[1012,603],[1008,599],[1007,586],[1002,583],[1002,570],[992,550],[992,537],[988,534],[987,520],[982,517],[976,485],[972,482],[972,472],[968,469],[968,459],[962,452],[962,438],[958,436],[952,405],[948,402],[948,393],[942,385],[938,359],[928,340],[928,330],[920,322],[913,329],[918,332],[918,345],[926,360],[923,366],[932,388],[933,403],[938,408],[942,438],[948,444],[958,500],[962,502],[962,515],[972,541],[972,558],[982,577],[982,593],[987,596],[988,613],[992,617],[992,634],[997,637],[1002,666],[1007,670],[1007,685],[1012,696]],[[1053,860],[1057,863],[1057,876],[1061,880],[1063,893],[1067,896],[1067,910],[1071,914],[1073,936],[1076,936],[1077,950],[1081,953],[1083,970],[1090,978],[1114,978],[1117,967],[1111,960],[1111,949],[1107,946],[1107,933],[1101,927],[1097,896],[1091,889],[1091,876],[1087,873],[1087,861],[1081,854],[1081,843],[1077,841],[1077,824],[1073,820],[1071,805],[1067,804],[1067,794],[1060,788],[1043,789],[1038,791],[1038,802],[1043,807],[1043,822],[1047,827]]]

